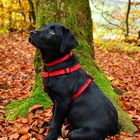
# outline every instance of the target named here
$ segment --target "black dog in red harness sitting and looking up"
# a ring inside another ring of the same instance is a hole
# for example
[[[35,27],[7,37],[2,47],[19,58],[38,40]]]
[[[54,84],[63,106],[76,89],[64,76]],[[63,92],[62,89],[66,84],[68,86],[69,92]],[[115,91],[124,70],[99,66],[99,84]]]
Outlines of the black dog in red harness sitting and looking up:
[[[73,34],[62,25],[49,23],[31,31],[29,42],[40,49],[44,90],[55,105],[44,139],[56,140],[65,118],[71,125],[69,140],[103,140],[117,134],[117,111],[71,53],[77,46]]]

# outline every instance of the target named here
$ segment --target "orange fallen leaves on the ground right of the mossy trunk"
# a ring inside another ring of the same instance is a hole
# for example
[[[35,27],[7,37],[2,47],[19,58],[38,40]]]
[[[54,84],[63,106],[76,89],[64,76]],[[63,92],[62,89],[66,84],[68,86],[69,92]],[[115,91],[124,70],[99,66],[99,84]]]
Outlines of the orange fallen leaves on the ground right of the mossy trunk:
[[[109,45],[109,44],[108,44]],[[123,46],[125,47],[125,46]],[[96,60],[111,83],[125,93],[120,96],[123,109],[129,113],[132,121],[139,128],[132,139],[140,137],[140,52],[122,52],[121,50],[95,49]],[[110,139],[127,139],[122,133]]]

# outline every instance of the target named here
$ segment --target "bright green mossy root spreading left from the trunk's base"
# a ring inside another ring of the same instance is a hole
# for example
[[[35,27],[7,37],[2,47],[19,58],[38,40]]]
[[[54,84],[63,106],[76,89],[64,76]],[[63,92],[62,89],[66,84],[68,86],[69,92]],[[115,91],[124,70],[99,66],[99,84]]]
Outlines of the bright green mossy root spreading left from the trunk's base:
[[[18,116],[25,117],[29,108],[35,104],[40,104],[45,109],[50,106],[51,101],[45,94],[32,96],[29,99],[14,100],[5,107],[7,110],[5,120],[15,120]]]

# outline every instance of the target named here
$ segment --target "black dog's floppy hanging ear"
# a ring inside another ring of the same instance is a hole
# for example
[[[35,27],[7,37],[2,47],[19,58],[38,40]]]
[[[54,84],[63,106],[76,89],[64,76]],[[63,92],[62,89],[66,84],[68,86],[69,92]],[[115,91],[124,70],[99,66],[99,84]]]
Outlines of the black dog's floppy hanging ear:
[[[66,50],[71,50],[78,45],[78,42],[69,29],[65,29],[60,52],[64,53]]]

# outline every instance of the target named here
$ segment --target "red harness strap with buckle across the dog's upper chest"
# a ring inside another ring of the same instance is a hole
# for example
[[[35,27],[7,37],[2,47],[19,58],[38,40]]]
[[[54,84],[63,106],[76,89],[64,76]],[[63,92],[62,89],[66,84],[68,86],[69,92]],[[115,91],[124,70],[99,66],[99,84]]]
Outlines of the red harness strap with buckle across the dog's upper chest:
[[[73,71],[76,71],[79,68],[81,68],[81,66],[79,64],[76,64],[73,67],[67,67],[65,69],[56,70],[56,71],[52,71],[52,72],[43,71],[42,72],[42,77],[43,78],[48,78],[48,77],[58,76],[58,75],[62,75],[62,74],[67,74],[67,73],[71,73]]]

